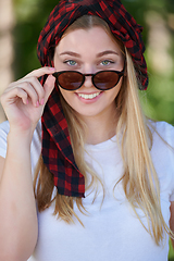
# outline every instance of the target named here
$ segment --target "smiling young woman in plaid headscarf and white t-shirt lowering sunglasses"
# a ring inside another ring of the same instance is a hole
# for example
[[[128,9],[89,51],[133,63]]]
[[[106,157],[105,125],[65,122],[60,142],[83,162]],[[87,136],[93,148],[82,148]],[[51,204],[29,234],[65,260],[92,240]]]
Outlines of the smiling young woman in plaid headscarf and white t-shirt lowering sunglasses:
[[[174,128],[141,112],[140,33],[119,0],[51,12],[1,97],[0,260],[167,260]]]

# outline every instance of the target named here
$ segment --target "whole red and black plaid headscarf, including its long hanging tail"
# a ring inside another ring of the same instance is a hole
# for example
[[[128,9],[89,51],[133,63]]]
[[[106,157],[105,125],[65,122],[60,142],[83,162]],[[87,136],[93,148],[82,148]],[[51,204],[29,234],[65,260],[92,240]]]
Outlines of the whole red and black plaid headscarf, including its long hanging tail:
[[[50,13],[40,33],[37,46],[38,59],[42,66],[50,64],[50,52],[64,30],[78,17],[88,14],[103,18],[112,34],[119,38],[132,54],[141,89],[148,86],[147,65],[141,39],[142,27],[125,10],[120,0],[62,0]],[[41,78],[41,84],[44,83]],[[41,119],[42,159],[53,174],[59,194],[84,197],[85,178],[78,171],[71,146],[67,123],[59,97],[59,88],[52,91]]]

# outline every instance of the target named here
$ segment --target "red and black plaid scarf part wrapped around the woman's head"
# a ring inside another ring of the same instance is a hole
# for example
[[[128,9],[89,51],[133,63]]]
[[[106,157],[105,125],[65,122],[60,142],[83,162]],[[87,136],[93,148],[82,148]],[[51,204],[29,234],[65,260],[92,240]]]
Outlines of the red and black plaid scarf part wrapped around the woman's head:
[[[125,10],[120,0],[62,0],[51,12],[38,39],[38,58],[42,66],[49,65],[49,51],[60,41],[64,30],[78,17],[89,14],[104,20],[112,34],[132,54],[141,89],[148,86],[147,65],[141,39],[142,27]]]

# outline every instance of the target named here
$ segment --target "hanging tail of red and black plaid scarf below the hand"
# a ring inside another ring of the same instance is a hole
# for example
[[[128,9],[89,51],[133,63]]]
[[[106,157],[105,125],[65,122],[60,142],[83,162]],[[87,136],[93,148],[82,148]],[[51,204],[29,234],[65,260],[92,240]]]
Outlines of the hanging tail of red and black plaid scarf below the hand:
[[[59,194],[84,197],[85,178],[78,171],[70,141],[58,87],[51,94],[41,119],[42,159],[53,174]]]

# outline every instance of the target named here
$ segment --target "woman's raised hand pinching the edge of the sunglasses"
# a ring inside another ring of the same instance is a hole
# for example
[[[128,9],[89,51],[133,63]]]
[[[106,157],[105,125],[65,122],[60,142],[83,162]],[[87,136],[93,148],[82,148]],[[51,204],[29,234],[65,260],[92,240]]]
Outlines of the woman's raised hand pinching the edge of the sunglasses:
[[[1,96],[1,103],[10,122],[11,129],[34,132],[42,115],[45,104],[53,90],[52,67],[41,67],[9,85]],[[38,77],[48,74],[44,86]]]

